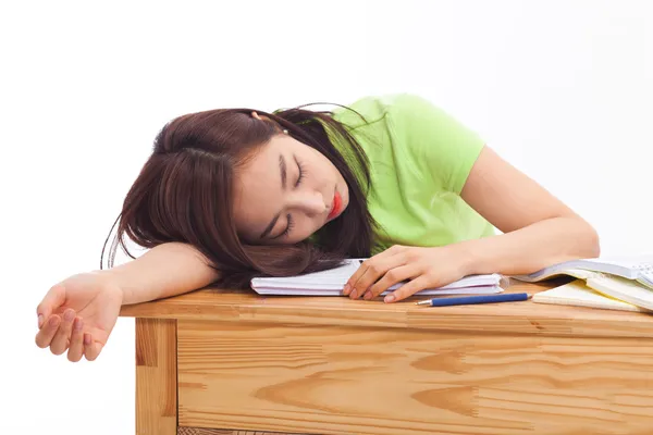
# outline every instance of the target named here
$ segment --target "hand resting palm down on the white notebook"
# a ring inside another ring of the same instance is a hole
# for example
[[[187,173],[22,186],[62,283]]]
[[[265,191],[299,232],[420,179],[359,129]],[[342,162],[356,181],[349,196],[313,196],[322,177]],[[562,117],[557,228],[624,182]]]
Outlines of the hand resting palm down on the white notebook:
[[[390,287],[410,281],[385,296],[385,302],[396,302],[426,288],[445,286],[466,276],[467,257],[444,246],[421,248],[393,246],[365,261],[349,277],[344,294],[352,299],[370,300]]]

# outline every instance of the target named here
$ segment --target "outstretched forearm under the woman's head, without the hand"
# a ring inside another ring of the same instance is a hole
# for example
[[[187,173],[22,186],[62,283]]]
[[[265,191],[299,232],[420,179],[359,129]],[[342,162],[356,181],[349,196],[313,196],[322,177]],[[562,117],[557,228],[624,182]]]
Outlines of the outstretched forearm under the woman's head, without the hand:
[[[123,304],[181,295],[213,283],[218,272],[189,245],[157,246],[125,264],[98,272],[123,291]]]

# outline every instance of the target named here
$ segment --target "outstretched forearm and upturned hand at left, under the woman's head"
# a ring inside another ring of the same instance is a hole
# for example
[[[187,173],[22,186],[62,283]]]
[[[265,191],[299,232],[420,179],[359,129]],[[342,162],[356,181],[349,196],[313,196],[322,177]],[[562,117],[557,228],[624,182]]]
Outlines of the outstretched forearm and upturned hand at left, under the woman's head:
[[[95,360],[123,304],[192,291],[219,274],[189,245],[170,243],[106,271],[81,273],[56,284],[38,304],[36,345],[69,360]]]

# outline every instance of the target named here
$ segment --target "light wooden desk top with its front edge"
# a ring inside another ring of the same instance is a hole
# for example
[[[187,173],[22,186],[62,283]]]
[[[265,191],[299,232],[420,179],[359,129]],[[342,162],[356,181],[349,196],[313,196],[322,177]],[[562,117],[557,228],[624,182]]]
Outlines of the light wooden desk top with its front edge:
[[[533,295],[565,283],[510,281],[505,293]],[[152,302],[124,306],[121,316],[278,324],[397,327],[470,333],[653,338],[653,315],[535,303],[418,307],[422,297],[395,303],[346,297],[260,296],[254,290],[205,288]]]

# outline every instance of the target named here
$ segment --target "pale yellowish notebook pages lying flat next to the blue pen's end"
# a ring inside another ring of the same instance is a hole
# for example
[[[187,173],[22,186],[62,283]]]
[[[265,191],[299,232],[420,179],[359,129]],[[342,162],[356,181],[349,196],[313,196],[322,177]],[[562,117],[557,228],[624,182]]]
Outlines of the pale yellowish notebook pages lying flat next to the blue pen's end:
[[[563,306],[590,307],[604,310],[649,312],[645,308],[637,307],[621,300],[602,295],[586,285],[582,279],[575,279],[568,284],[540,291],[533,295],[533,302],[554,303]]]

